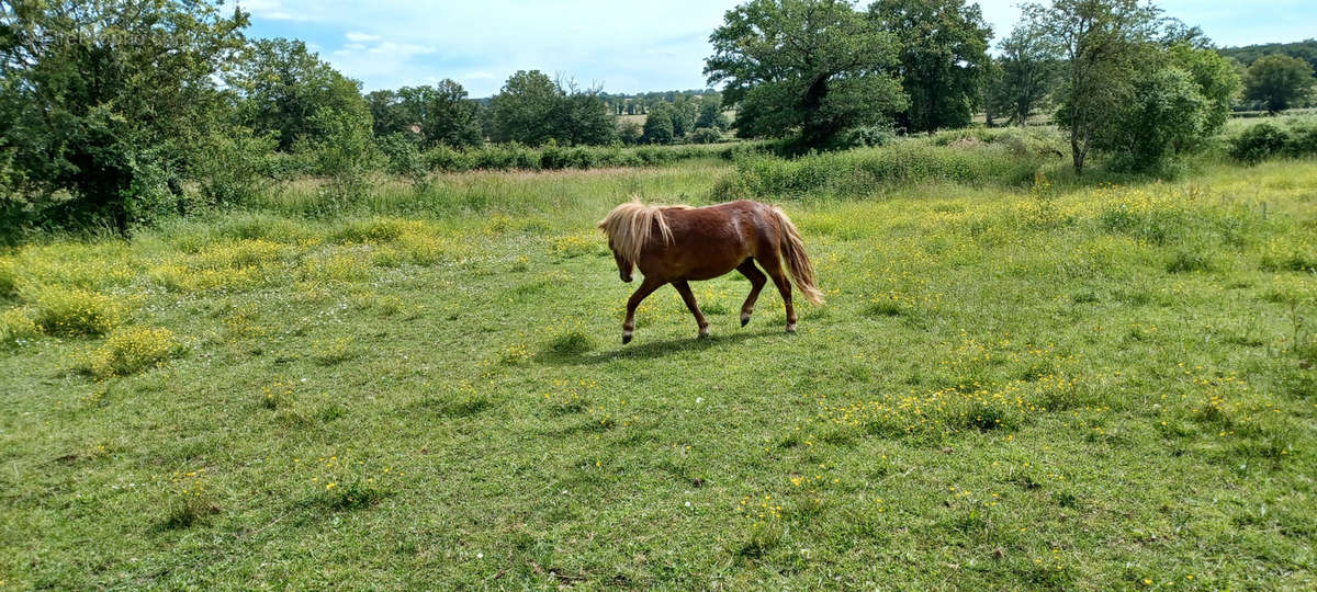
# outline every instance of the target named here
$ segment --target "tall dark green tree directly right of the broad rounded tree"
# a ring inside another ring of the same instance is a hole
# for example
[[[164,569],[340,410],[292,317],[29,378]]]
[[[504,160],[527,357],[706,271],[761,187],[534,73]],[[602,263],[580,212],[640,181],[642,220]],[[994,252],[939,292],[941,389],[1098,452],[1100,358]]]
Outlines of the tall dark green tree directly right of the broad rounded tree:
[[[965,0],[877,0],[869,18],[898,43],[901,87],[910,108],[897,114],[910,132],[969,125],[986,72],[992,28]]]

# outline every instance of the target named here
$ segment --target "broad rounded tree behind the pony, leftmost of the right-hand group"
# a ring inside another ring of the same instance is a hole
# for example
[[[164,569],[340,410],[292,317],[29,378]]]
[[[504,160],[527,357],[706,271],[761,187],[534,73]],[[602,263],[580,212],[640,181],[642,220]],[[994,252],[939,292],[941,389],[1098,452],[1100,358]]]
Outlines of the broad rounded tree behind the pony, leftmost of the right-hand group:
[[[749,0],[709,41],[710,84],[726,82],[741,137],[790,137],[826,147],[851,128],[906,105],[896,39],[842,0]]]

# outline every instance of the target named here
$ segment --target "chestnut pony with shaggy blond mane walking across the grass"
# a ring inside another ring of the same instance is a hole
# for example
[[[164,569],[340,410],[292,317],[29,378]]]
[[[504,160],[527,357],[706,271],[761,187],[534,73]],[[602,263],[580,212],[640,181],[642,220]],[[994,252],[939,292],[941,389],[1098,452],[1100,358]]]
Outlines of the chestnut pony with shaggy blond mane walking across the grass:
[[[755,300],[772,278],[786,305],[786,330],[795,332],[792,283],[786,279],[784,264],[809,301],[823,303],[799,232],[781,209],[770,205],[732,201],[690,208],[645,205],[632,200],[610,212],[599,222],[599,229],[608,237],[608,249],[612,249],[622,280],[631,282],[635,267],[645,275],[640,288],[627,301],[623,343],[630,343],[635,332],[636,307],[664,284],[672,284],[681,293],[699,324],[699,337],[709,335],[709,321],[699,312],[689,282],[714,279],[732,270],[740,271],[751,283],[749,296],[741,305],[741,326],[749,322]],[[764,271],[755,267],[756,260]]]

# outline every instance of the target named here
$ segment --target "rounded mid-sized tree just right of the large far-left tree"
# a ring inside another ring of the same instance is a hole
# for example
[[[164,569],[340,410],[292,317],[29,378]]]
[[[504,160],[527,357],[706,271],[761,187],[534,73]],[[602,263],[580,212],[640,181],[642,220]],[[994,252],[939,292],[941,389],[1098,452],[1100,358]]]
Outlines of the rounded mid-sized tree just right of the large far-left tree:
[[[370,108],[361,84],[320,59],[298,39],[252,43],[229,84],[242,92],[242,122],[257,133],[274,132],[279,150],[288,151],[319,126],[311,118],[332,111],[361,120]]]

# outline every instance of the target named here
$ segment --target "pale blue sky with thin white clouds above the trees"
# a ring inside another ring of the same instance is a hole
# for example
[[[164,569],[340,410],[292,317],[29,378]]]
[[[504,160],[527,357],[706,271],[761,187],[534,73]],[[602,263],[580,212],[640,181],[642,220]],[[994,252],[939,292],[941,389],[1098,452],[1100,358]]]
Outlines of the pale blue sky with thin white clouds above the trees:
[[[867,0],[865,0],[867,1]],[[252,37],[306,41],[366,91],[452,78],[471,96],[498,92],[516,70],[564,74],[608,92],[705,86],[709,34],[736,0],[240,0]],[[1018,0],[979,3],[997,37]],[[1167,14],[1220,45],[1317,37],[1313,0],[1163,0]]]

